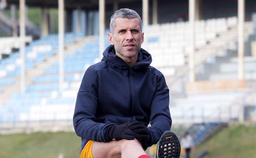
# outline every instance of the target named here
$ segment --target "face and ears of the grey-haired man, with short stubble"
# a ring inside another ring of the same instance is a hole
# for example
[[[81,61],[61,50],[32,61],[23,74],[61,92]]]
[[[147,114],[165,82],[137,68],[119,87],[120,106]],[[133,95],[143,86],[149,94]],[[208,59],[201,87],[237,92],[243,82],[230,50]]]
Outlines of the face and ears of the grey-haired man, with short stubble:
[[[114,33],[108,33],[109,42],[114,45],[115,53],[123,57],[134,57],[141,49],[144,33],[141,33],[138,18],[116,18]]]

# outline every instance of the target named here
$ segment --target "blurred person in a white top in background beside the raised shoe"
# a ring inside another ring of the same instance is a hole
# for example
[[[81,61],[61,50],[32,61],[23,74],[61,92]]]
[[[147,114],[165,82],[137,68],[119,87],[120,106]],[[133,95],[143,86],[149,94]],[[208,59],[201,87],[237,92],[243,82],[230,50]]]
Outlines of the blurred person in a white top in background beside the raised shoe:
[[[190,158],[190,151],[193,149],[194,143],[191,135],[185,132],[180,140],[181,146],[185,149],[186,158]]]

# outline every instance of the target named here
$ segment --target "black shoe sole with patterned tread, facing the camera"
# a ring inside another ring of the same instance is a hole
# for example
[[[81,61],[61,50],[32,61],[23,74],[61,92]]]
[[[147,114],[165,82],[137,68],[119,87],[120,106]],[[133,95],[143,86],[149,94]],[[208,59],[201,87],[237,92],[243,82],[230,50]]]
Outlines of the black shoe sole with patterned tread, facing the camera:
[[[157,158],[180,158],[180,141],[171,131],[165,131],[157,145]]]

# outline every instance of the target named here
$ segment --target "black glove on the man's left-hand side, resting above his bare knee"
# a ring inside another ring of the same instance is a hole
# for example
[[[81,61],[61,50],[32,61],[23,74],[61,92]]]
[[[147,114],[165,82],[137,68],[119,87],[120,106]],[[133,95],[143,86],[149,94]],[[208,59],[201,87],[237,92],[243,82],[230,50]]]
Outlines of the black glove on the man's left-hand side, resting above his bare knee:
[[[108,141],[121,139],[134,140],[134,138],[141,139],[139,134],[135,133],[128,127],[128,123],[108,126],[106,137]]]

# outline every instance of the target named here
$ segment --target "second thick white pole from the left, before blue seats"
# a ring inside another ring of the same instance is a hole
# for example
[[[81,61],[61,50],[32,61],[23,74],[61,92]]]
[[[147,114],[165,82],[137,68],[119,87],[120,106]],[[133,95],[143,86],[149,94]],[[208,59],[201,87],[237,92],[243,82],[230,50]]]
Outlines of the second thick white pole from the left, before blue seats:
[[[64,84],[64,0],[58,0],[59,14],[59,91],[62,92]]]

